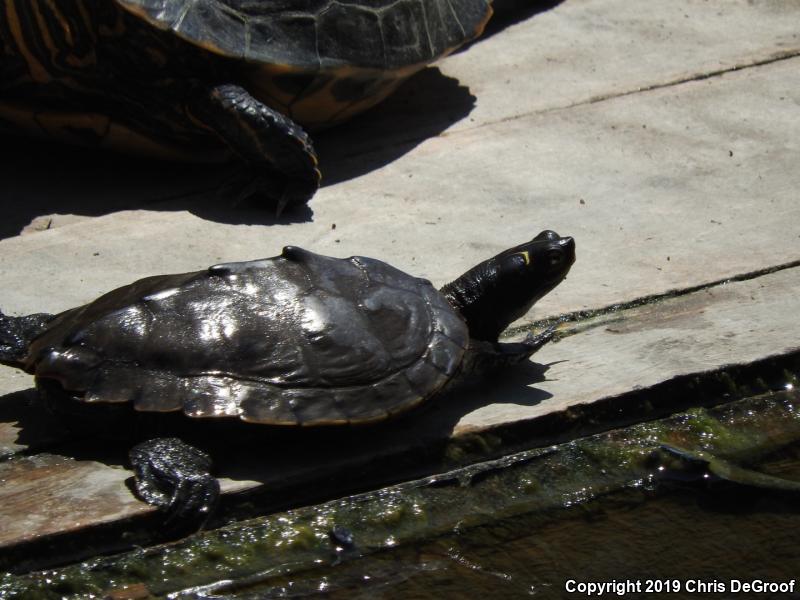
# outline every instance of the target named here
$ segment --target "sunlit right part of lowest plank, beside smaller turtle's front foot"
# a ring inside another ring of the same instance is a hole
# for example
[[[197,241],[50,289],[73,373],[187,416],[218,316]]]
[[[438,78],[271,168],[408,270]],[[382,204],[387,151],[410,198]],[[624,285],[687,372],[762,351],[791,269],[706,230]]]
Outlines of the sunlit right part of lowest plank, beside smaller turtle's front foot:
[[[795,352],[798,285],[800,268],[793,268],[598,318],[595,326],[536,355],[551,365],[547,379],[535,384],[547,401],[531,405],[498,390],[460,419],[454,433],[536,419],[689,373]]]

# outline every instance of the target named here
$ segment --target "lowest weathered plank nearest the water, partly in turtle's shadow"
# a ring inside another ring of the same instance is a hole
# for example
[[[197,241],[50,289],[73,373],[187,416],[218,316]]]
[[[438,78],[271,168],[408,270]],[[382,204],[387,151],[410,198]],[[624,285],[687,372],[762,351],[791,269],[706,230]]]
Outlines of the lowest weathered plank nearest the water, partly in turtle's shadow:
[[[636,388],[797,351],[798,285],[800,268],[786,269],[622,311],[593,327],[578,324],[576,333],[537,355],[550,364],[545,381],[531,383],[522,369],[496,386],[457,390],[401,426],[333,430],[321,440],[313,433],[265,430],[263,445],[225,449],[219,461],[224,489],[263,488],[272,496],[290,488],[341,489],[370,465],[420,446],[442,448],[451,436],[496,431],[582,405],[605,410],[610,398]],[[130,473],[120,466],[124,458],[112,455],[102,463],[87,458],[92,453],[86,444],[78,458],[43,454],[0,463],[0,520],[11,524],[0,533],[0,549],[150,510],[125,487]],[[286,502],[292,500],[300,501]]]

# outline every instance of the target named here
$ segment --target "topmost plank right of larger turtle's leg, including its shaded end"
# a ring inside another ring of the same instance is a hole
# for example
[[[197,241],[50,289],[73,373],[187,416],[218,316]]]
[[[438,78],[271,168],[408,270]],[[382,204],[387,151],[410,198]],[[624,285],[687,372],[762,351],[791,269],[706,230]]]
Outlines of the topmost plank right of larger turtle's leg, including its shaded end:
[[[489,35],[332,131],[330,154],[342,141],[344,154],[369,152],[800,52],[793,2],[567,0],[541,12],[541,3],[505,4],[516,4],[518,22],[501,6],[503,23],[490,23]]]

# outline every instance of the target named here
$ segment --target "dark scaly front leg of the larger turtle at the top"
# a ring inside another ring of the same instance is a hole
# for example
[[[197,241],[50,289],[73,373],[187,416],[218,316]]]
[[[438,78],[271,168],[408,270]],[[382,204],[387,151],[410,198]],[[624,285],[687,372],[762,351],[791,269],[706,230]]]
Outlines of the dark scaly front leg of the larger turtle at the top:
[[[317,191],[317,155],[306,132],[244,88],[214,87],[194,98],[189,111],[250,166],[238,182],[238,200],[263,194],[276,202],[280,214]]]

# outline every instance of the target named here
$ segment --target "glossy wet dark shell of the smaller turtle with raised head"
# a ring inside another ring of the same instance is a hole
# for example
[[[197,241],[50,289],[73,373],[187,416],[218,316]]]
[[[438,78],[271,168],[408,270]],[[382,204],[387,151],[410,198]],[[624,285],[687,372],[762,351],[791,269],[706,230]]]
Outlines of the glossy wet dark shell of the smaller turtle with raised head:
[[[325,425],[413,407],[456,374],[468,342],[427,280],[286,247],[142,279],[61,313],[24,363],[87,402]]]

